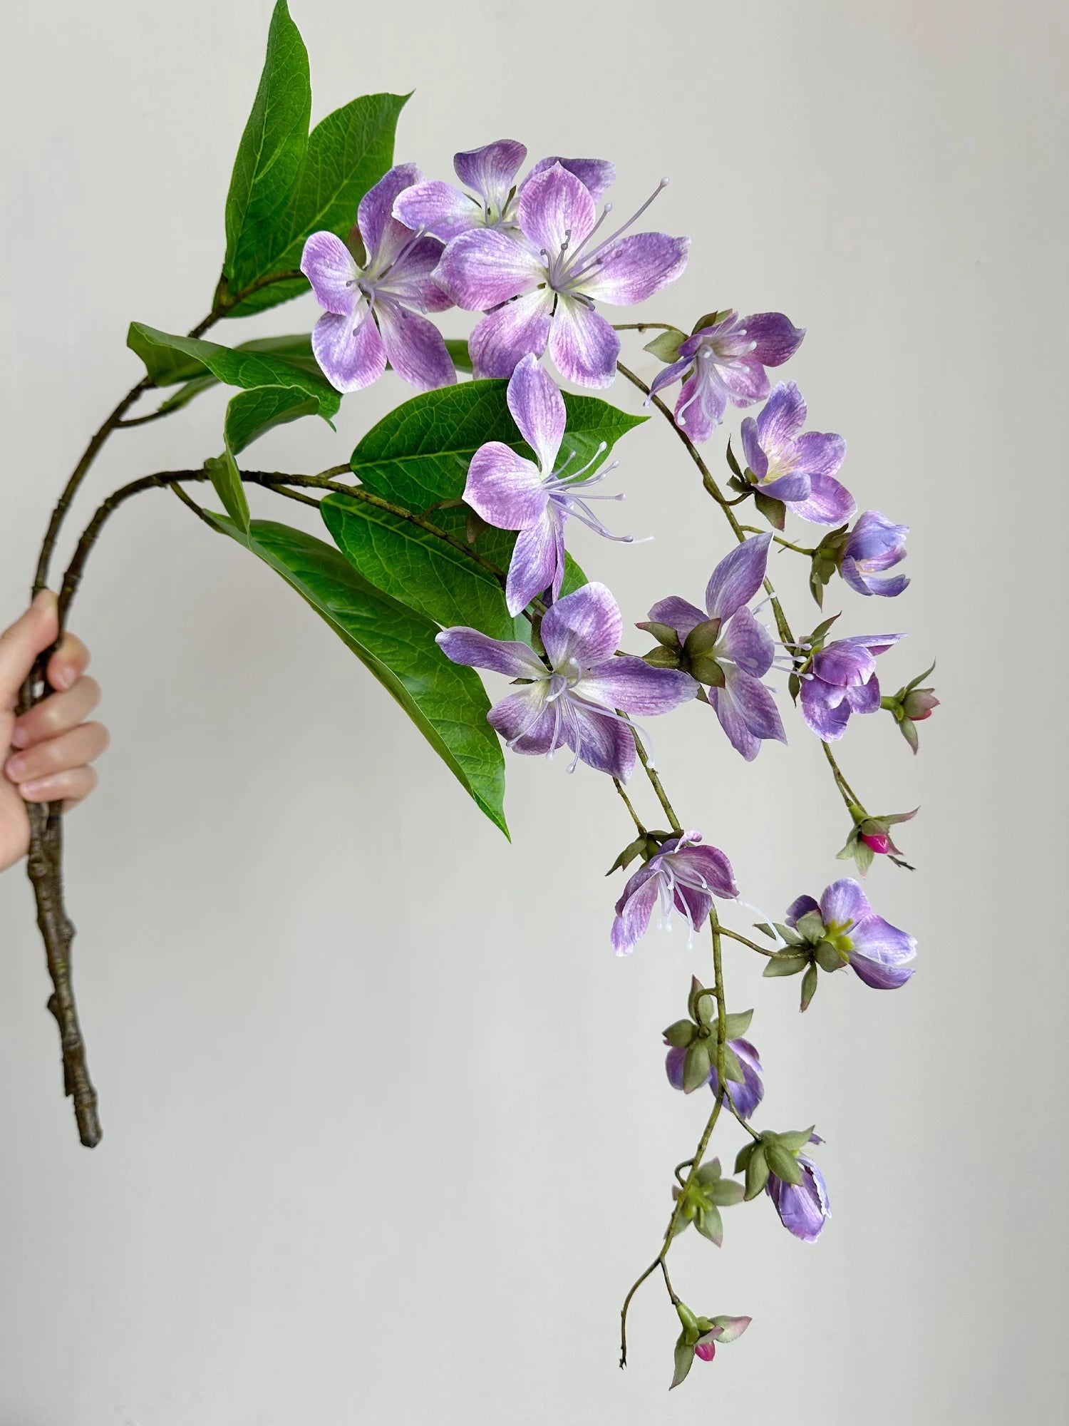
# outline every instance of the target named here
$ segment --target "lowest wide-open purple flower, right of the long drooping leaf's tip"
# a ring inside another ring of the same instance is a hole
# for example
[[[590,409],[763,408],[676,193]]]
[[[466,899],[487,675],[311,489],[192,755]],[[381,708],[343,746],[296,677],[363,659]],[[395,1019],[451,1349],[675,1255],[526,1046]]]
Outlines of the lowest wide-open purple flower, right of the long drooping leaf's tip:
[[[634,769],[631,713],[667,713],[694,697],[694,680],[677,669],[651,669],[614,656],[623,622],[604,585],[583,585],[542,620],[547,665],[526,643],[490,639],[476,629],[443,629],[446,657],[523,683],[486,714],[517,753],[553,753],[566,744],[599,771],[627,781]],[[619,710],[619,712],[617,712]]]

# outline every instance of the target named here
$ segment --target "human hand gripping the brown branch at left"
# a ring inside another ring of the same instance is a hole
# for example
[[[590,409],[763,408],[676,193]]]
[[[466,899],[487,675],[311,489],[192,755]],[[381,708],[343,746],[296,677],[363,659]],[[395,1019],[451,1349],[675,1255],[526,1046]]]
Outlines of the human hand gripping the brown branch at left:
[[[80,803],[97,786],[88,764],[108,746],[103,723],[83,722],[100,703],[100,687],[86,677],[88,649],[70,633],[48,659],[47,679],[57,692],[16,717],[34,659],[57,633],[56,595],[44,590],[0,635],[0,749],[10,749],[0,776],[0,871],[30,846],[26,803],[63,801],[64,811]]]

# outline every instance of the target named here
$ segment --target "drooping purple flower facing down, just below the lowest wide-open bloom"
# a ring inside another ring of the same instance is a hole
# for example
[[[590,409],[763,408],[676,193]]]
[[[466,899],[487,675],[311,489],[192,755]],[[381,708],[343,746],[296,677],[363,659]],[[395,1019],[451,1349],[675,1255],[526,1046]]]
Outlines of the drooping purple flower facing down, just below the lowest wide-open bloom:
[[[725,900],[738,896],[735,874],[724,853],[701,846],[698,831],[668,837],[661,843],[661,850],[630,877],[616,903],[613,950],[617,955],[627,955],[634,950],[636,941],[646,934],[659,901],[660,925],[666,930],[671,927],[674,907],[686,917],[693,935],[704,925],[714,896]]]

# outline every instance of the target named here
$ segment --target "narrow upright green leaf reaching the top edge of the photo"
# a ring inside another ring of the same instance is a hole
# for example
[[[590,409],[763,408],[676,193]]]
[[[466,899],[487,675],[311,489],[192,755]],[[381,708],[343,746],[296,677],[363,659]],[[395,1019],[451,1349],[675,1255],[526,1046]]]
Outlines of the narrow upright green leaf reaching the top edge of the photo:
[[[252,111],[238,144],[227,194],[227,255],[222,271],[234,289],[269,272],[261,254],[277,230],[301,175],[308,148],[312,86],[301,31],[278,0]],[[351,220],[352,221],[352,220]]]

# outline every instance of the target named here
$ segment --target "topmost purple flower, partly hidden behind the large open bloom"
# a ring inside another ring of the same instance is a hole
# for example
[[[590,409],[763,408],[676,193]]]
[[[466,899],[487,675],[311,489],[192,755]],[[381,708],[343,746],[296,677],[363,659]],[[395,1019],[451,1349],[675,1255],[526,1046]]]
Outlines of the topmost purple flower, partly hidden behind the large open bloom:
[[[472,193],[460,193],[439,180],[418,183],[399,195],[393,204],[393,217],[409,228],[423,228],[443,242],[472,228],[516,230],[516,174],[526,157],[526,147],[515,138],[499,138],[483,148],[455,154],[456,177]],[[543,158],[525,183],[553,164],[573,173],[594,198],[616,177],[613,165],[603,158]]]

